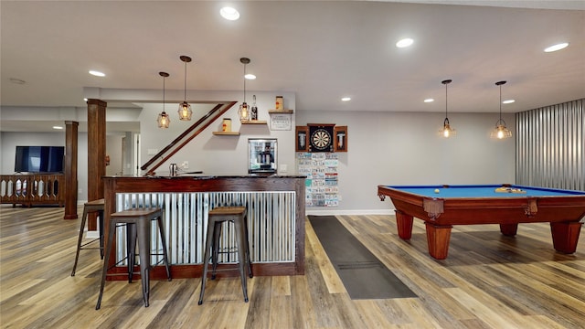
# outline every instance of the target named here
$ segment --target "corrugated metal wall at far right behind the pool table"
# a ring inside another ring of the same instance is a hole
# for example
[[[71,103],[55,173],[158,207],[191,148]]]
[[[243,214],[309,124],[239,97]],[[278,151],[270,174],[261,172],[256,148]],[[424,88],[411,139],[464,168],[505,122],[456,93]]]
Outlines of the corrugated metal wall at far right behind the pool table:
[[[516,184],[585,190],[584,102],[516,113]]]

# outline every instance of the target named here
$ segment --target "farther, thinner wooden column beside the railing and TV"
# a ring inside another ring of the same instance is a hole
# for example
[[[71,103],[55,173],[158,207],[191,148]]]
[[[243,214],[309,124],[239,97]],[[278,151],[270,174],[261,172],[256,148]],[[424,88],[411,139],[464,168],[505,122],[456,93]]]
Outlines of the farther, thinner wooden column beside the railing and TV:
[[[65,122],[65,186],[58,186],[59,193],[65,193],[65,216],[63,219],[77,217],[77,152],[78,126],[80,122]]]

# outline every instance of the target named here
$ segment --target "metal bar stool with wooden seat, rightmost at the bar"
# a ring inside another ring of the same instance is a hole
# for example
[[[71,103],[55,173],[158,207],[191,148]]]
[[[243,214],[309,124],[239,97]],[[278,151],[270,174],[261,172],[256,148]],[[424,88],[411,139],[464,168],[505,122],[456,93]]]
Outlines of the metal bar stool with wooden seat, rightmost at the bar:
[[[237,251],[219,251],[219,236],[221,235],[221,225],[223,222],[229,221],[234,224],[236,228],[236,241],[238,244]],[[250,265],[250,244],[248,241],[248,217],[246,214],[246,207],[215,207],[208,213],[207,222],[207,240],[205,245],[205,256],[203,260],[203,275],[201,276],[201,293],[199,294],[199,302],[203,303],[203,295],[205,293],[205,283],[207,281],[207,271],[209,267],[209,253],[211,253],[212,271],[211,280],[216,278],[218,272],[218,254],[219,253],[238,253],[238,269],[239,277],[241,278],[241,288],[244,292],[244,302],[248,302],[248,284],[246,282],[246,269],[253,277],[252,268]],[[219,271],[233,271],[234,269],[225,269]]]

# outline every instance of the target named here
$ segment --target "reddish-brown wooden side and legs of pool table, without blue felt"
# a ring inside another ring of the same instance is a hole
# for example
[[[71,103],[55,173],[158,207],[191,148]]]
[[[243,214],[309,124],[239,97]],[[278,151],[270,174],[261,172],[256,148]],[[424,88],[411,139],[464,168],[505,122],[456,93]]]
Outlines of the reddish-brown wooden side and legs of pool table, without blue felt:
[[[429,254],[437,260],[447,258],[453,225],[499,224],[502,234],[515,236],[518,223],[549,222],[554,248],[574,253],[585,216],[585,194],[441,198],[378,186],[378,196],[394,204],[400,239],[411,238],[413,218],[425,222]]]

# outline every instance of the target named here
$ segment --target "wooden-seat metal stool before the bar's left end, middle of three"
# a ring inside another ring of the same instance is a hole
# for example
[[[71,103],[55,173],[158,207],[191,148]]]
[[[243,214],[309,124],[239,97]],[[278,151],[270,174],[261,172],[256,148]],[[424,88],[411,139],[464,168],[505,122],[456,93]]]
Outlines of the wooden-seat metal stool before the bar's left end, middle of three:
[[[165,232],[163,229],[163,212],[158,207],[153,208],[135,208],[123,210],[120,212],[113,213],[110,215],[110,230],[108,232],[108,244],[106,245],[105,259],[103,260],[103,271],[101,271],[101,288],[100,296],[98,297],[98,303],[95,307],[96,310],[100,309],[101,296],[103,295],[103,288],[106,282],[108,263],[110,260],[110,254],[112,253],[113,237],[115,235],[116,228],[125,225],[126,226],[126,243],[127,243],[127,260],[128,260],[128,281],[132,281],[133,267],[135,264],[135,250],[136,250],[136,239],[138,240],[138,255],[140,258],[140,276],[143,285],[143,298],[144,307],[148,307],[148,297],[150,294],[150,270],[151,263],[150,259],[152,255],[163,256],[163,259],[159,262],[165,263],[166,277],[168,281],[171,281],[171,271],[168,263],[168,257],[166,254],[166,239]],[[163,245],[163,253],[152,253],[151,252],[151,222],[155,220],[158,224],[158,231],[161,237],[161,244]],[[122,260],[121,260],[122,261]],[[157,263],[159,263],[157,262]],[[118,262],[120,263],[120,261]],[[114,264],[116,266],[118,263]]]

